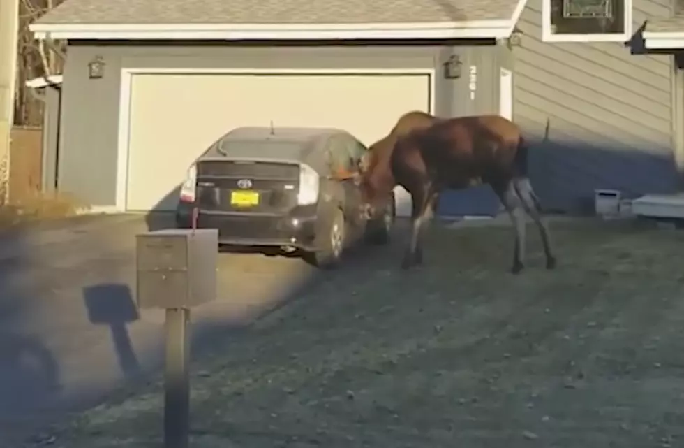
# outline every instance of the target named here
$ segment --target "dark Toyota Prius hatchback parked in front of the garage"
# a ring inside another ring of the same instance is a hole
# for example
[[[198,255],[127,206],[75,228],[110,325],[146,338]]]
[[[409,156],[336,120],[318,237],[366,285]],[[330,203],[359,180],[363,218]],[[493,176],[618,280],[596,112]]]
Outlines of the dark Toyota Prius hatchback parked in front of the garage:
[[[363,219],[354,174],[368,151],[346,131],[233,129],[188,168],[177,225],[218,229],[219,243],[280,247],[315,266],[335,266],[350,244],[386,243],[394,197]]]

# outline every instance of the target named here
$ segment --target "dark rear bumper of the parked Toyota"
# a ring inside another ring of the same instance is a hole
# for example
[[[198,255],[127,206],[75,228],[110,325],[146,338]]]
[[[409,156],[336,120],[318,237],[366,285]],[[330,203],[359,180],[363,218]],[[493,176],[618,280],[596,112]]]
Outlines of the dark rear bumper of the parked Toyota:
[[[315,250],[315,209],[290,215],[214,212],[199,210],[198,229],[218,229],[218,243],[244,246],[292,246]],[[181,206],[176,212],[181,229],[192,226],[192,208]]]

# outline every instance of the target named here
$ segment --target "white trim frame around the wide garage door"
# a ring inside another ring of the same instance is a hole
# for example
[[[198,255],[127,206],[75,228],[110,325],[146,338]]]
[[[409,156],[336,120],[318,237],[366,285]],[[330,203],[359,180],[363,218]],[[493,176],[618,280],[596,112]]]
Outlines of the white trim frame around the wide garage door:
[[[121,92],[119,98],[119,136],[117,142],[117,211],[126,211],[128,187],[128,151],[131,131],[131,86],[133,76],[137,74],[168,75],[428,75],[429,76],[429,109],[435,110],[435,75],[434,68],[372,68],[372,69],[266,69],[254,68],[122,68]],[[389,131],[389,129],[388,129]]]

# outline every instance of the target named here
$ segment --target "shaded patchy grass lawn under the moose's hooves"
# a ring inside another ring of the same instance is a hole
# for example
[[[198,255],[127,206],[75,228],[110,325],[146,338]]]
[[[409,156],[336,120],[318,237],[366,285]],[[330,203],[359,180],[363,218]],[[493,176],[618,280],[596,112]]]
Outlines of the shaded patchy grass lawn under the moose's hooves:
[[[507,273],[512,229],[432,229],[357,256],[194,364],[192,445],[674,447],[684,233],[554,223],[560,266]],[[161,385],[80,415],[69,448],[150,447]]]

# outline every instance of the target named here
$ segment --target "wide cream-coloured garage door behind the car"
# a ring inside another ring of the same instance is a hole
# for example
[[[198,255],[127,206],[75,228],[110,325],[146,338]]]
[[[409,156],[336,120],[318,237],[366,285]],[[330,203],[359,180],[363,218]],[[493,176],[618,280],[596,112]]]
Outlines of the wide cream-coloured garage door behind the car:
[[[126,208],[174,210],[188,166],[235,127],[336,127],[371,145],[401,114],[429,111],[429,81],[428,75],[133,75]],[[397,200],[406,215],[410,197],[401,189]]]

